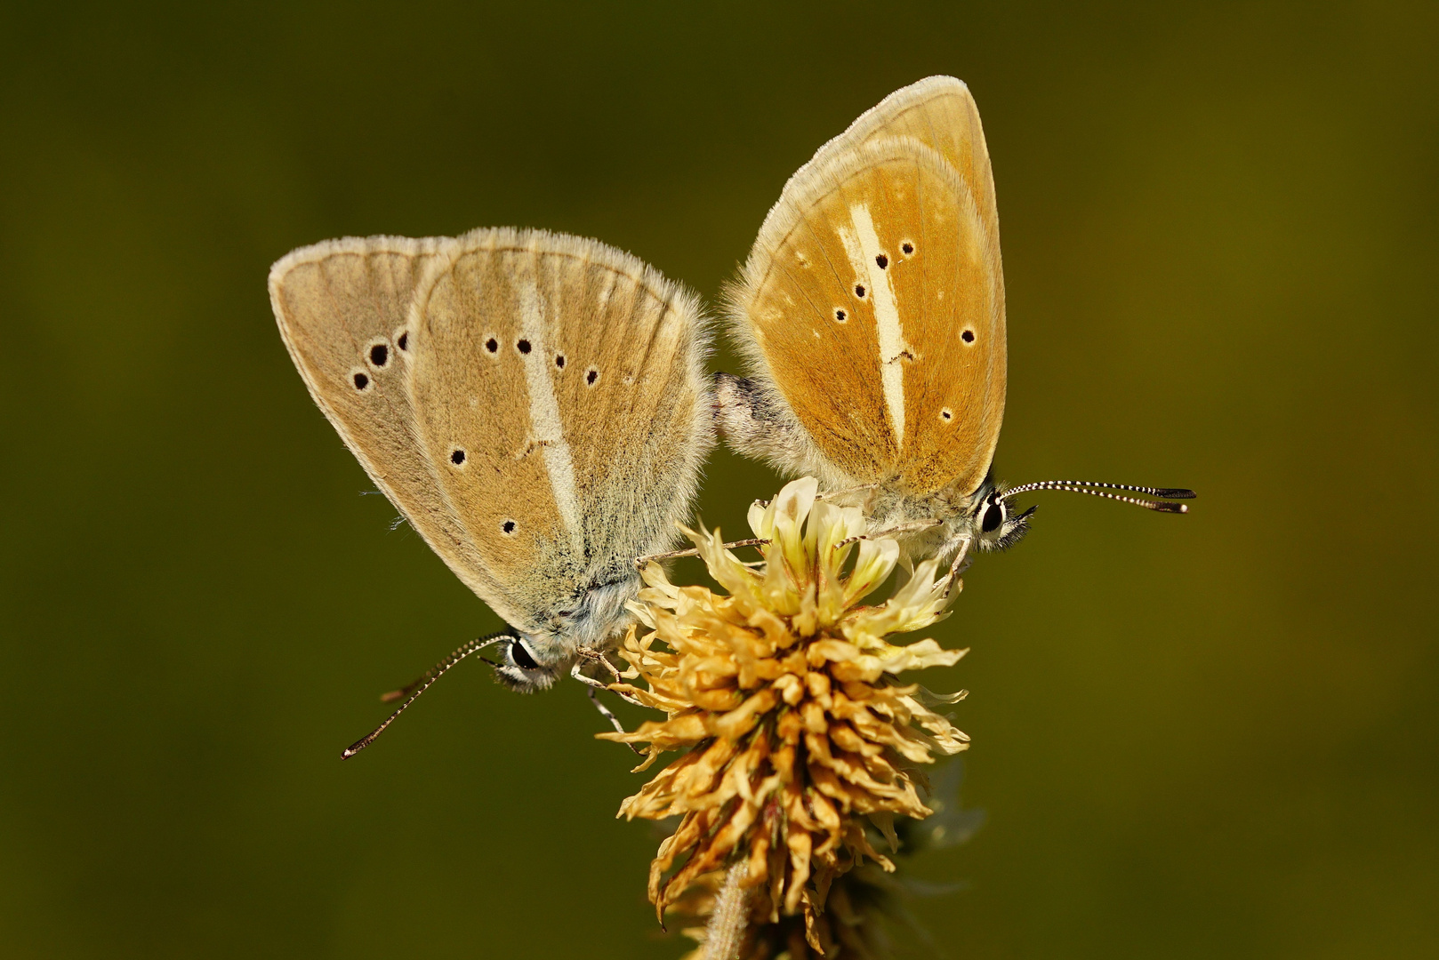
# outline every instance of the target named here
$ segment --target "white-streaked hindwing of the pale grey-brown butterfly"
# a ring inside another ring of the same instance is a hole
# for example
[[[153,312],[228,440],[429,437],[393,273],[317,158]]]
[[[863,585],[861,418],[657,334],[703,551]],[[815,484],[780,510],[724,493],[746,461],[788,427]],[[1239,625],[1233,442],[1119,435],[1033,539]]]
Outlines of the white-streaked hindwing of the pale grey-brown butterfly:
[[[603,245],[460,237],[416,299],[419,436],[531,616],[673,538],[708,445],[695,302]]]

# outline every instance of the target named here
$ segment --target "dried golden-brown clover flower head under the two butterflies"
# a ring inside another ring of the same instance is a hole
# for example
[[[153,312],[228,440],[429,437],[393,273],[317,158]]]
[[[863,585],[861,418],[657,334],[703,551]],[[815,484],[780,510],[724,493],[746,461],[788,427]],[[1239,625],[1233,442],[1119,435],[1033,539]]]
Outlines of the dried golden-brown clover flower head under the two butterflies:
[[[803,915],[806,940],[823,950],[819,918],[835,881],[866,859],[894,864],[871,838],[895,845],[894,816],[925,818],[921,764],[954,754],[968,737],[901,685],[904,671],[948,666],[964,651],[934,640],[894,645],[886,636],[943,616],[945,579],[921,563],[885,603],[862,600],[892,573],[898,544],[861,538],[853,507],[816,499],[817,484],[789,484],[750,510],[764,563],[748,566],[718,531],[686,531],[725,589],[673,586],[658,566],[632,610],[620,648],[630,669],[612,688],[665,711],[629,734],[648,744],[648,769],[685,753],[625,800],[626,818],[679,816],[650,864],[649,898],[659,914],[715,871],[740,877],[754,921]]]

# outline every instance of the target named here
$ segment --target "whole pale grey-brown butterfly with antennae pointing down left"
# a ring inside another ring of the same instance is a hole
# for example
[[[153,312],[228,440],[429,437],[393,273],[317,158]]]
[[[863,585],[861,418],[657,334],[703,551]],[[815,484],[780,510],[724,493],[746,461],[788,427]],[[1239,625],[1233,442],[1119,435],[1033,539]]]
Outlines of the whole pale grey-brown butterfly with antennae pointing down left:
[[[390,720],[486,646],[512,689],[586,679],[712,443],[699,301],[596,240],[509,229],[307,246],[269,289],[315,403],[511,626],[393,695]]]

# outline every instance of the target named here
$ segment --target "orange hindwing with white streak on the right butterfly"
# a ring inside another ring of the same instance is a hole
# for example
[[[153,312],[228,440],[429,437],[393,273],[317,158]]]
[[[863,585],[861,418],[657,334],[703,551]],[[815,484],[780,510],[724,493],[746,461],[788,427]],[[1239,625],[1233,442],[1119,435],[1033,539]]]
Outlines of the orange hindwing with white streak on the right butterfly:
[[[849,478],[979,486],[1003,416],[1003,294],[973,193],[938,151],[912,137],[822,150],[735,299],[741,335]]]

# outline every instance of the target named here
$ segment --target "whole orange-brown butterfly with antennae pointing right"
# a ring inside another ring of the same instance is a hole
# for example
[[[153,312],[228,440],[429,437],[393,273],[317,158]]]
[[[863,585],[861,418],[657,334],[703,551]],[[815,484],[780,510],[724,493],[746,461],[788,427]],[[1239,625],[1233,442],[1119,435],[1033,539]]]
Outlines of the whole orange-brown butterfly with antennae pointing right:
[[[979,108],[951,76],[905,86],[790,177],[725,294],[750,376],[715,376],[738,453],[862,492],[902,557],[1003,550],[1033,489],[1186,512],[1179,488],[993,479],[1004,416],[1004,271]],[[1163,499],[1141,499],[1108,491]]]

